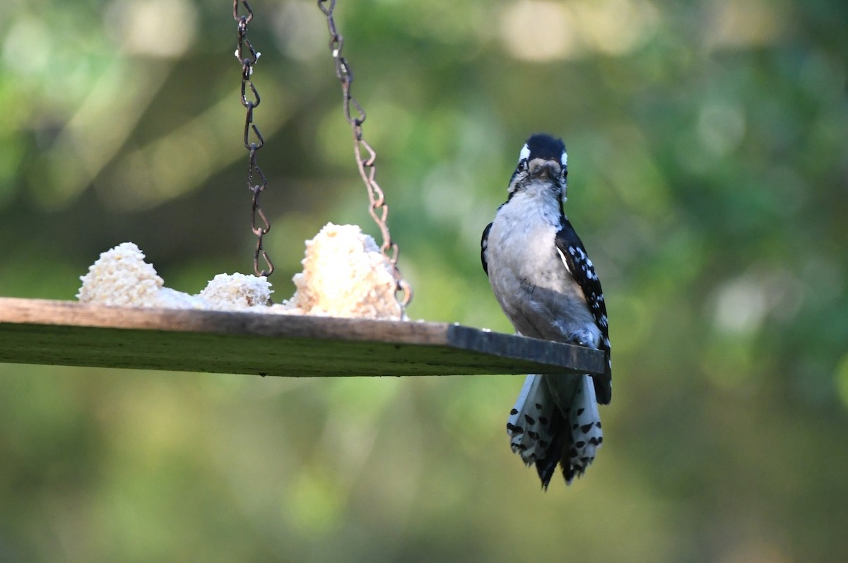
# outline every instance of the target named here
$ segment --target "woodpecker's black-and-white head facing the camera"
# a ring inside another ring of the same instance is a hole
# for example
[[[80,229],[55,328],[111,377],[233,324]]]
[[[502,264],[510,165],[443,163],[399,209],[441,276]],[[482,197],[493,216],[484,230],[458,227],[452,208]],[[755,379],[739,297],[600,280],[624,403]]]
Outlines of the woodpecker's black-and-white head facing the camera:
[[[550,135],[536,134],[527,139],[521,153],[518,153],[518,165],[512,173],[507,192],[511,198],[527,187],[540,186],[564,200],[567,176],[568,154],[565,143]]]

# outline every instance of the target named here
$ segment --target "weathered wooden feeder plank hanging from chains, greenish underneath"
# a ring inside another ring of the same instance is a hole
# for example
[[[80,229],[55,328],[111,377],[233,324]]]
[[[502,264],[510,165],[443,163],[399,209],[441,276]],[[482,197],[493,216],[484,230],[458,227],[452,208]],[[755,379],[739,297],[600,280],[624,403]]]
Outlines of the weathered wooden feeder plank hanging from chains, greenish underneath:
[[[0,298],[0,362],[267,376],[604,371],[598,350],[468,326]]]

